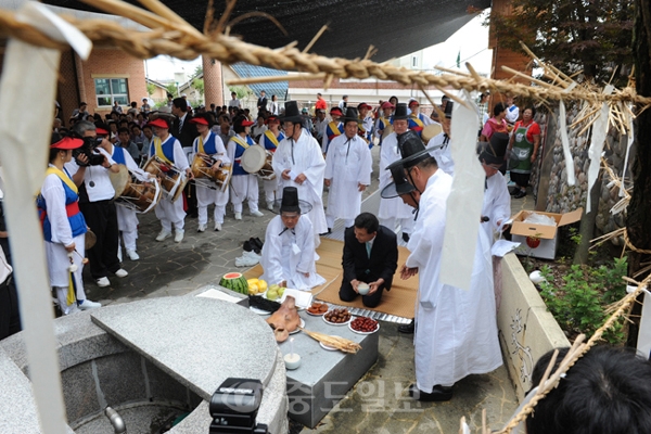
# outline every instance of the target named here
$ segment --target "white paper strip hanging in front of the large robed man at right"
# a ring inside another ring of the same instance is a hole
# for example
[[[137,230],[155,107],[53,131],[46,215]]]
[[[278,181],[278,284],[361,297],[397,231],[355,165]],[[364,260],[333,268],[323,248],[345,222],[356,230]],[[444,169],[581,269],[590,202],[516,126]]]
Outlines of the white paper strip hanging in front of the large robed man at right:
[[[470,107],[455,103],[450,146],[455,162],[452,191],[447,200],[441,282],[470,289],[477,245],[486,173],[477,158],[478,110],[465,90],[459,97]]]

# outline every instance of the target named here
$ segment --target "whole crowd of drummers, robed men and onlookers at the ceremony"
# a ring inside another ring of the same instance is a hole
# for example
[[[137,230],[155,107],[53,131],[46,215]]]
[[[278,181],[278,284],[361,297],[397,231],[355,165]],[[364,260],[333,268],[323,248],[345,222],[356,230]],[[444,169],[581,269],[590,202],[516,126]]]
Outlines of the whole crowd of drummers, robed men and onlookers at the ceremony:
[[[499,270],[490,246],[508,229],[510,196],[526,194],[540,145],[534,107],[521,111],[508,98],[489,112],[487,98],[482,94],[477,102],[477,157],[486,182],[482,213],[476,216],[483,230],[471,259],[470,290],[439,280],[447,197],[455,173],[449,145],[454,102],[447,98],[439,111],[426,116],[417,100],[399,103],[395,97],[376,107],[352,106],[344,97],[328,112],[319,94],[312,117],[309,108],[299,108],[295,101],[280,107],[275,95],[269,101],[261,92],[255,122],[234,92],[228,105],[210,104],[209,110],[200,106],[196,111],[182,97],[169,98],[168,111],[154,112],[143,99],[140,107],[133,102],[126,113],[116,104],[104,117],[91,116],[81,103],[67,127],[60,120],[54,124],[47,176],[37,200],[59,309],[71,315],[101,306],[84,291],[81,269],[87,260],[95,284],[106,286],[110,278],[128,276],[122,267],[123,243],[126,256],[139,259],[138,213],[115,201],[120,192],[112,181],[125,170],[133,182],[161,184],[156,241],[170,238],[174,231],[174,241],[182,242],[188,214],[197,217],[199,232],[206,231],[209,206],[214,206],[216,231],[222,230],[229,203],[235,220],[242,219],[244,202],[252,216],[263,216],[260,202],[278,214],[267,226],[261,248],[261,278],[269,284],[299,290],[322,284],[316,250],[320,237],[341,219],[346,227],[341,299],[360,296],[365,306],[376,307],[394,276],[418,278],[416,318],[399,328],[416,333],[416,383],[409,394],[426,401],[451,399],[456,382],[502,363],[496,321],[501,295],[494,284]],[[436,133],[425,137],[430,126],[436,126]],[[381,146],[378,216],[361,213],[361,194],[371,183],[374,144]],[[264,170],[251,168],[257,164],[251,163],[251,155],[263,158]],[[152,162],[157,171],[151,170]],[[194,170],[196,164],[203,171]],[[511,192],[507,167],[516,184]],[[170,178],[174,182],[166,184]],[[183,179],[194,182],[186,184]],[[258,197],[260,180],[264,201]],[[324,188],[329,190],[327,203]],[[5,240],[1,225],[0,219],[0,240]],[[400,234],[409,257],[399,266]],[[0,244],[5,247],[7,243]],[[4,266],[0,267],[2,339],[20,330],[20,319],[9,250],[0,251],[0,264]]]

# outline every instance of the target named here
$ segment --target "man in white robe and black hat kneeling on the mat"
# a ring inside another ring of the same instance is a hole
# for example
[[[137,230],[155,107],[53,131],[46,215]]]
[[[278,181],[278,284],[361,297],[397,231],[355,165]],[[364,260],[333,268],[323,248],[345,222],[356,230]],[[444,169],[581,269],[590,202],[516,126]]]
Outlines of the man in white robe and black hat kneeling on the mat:
[[[298,200],[295,187],[285,187],[273,209],[280,215],[267,226],[260,259],[264,275],[260,279],[269,284],[302,291],[326,283],[326,279],[317,275],[314,229],[304,215],[311,209],[310,204]]]

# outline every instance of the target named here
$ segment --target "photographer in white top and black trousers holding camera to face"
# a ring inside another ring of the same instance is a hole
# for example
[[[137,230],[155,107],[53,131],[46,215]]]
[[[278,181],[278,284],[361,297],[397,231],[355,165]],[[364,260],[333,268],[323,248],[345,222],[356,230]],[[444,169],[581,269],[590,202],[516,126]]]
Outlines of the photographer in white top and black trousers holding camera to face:
[[[73,132],[84,139],[84,145],[66,163],[73,181],[79,186],[79,208],[90,230],[97,237],[95,245],[87,251],[90,275],[98,286],[108,286],[106,275],[128,276],[117,258],[117,212],[113,199],[115,190],[108,173],[119,168],[106,149],[111,145],[108,131],[98,129],[87,120],[75,124]]]

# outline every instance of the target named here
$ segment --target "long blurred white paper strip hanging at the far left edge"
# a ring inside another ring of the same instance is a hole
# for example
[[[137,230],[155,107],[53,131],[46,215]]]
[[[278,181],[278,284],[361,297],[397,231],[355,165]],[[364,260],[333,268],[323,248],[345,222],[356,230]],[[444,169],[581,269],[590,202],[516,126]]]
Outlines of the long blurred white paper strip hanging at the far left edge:
[[[42,4],[25,3],[18,20],[37,26],[53,39],[69,41],[80,50],[79,55],[87,59],[90,40]],[[67,432],[42,230],[34,202],[48,161],[60,59],[59,50],[10,39],[0,79],[0,137],[3,139],[0,158],[7,226],[21,299],[29,379],[41,432],[46,434]]]

